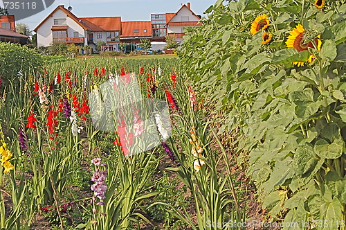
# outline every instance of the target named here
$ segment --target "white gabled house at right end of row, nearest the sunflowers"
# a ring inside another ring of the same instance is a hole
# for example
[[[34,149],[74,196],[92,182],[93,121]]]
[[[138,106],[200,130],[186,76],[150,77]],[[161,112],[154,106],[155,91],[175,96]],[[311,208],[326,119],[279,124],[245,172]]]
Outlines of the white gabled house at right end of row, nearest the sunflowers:
[[[170,20],[167,21],[167,24],[165,24],[167,35],[175,36],[176,41],[181,42],[185,35],[184,28],[201,26],[201,23],[199,23],[200,19],[201,17],[191,10],[191,3],[187,5],[183,4],[178,12],[176,12]]]

